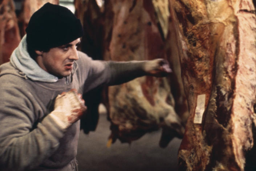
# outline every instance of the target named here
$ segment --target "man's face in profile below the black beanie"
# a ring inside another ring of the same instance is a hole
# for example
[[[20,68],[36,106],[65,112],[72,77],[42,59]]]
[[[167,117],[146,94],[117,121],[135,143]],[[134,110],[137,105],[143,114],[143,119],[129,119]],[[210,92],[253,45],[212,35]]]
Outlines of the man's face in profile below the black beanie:
[[[72,73],[74,61],[78,60],[77,45],[79,43],[80,38],[57,48],[51,48],[49,52],[41,52],[36,59],[37,64],[54,76],[69,76]]]

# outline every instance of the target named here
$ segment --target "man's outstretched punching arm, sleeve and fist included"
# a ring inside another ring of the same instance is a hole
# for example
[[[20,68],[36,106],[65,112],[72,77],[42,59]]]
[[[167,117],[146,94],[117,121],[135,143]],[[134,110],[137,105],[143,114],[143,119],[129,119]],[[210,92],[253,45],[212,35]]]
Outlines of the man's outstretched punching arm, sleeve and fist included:
[[[84,93],[102,85],[118,85],[142,76],[164,77],[172,71],[164,59],[145,61],[92,60],[78,51],[78,77],[85,82]]]

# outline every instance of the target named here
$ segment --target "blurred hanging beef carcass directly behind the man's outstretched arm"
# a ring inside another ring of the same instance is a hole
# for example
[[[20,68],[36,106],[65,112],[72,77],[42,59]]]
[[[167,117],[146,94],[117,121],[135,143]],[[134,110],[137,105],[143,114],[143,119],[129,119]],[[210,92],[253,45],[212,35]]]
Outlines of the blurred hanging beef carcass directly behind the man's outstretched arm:
[[[154,12],[153,5],[143,1],[113,5],[114,23],[109,56],[105,58],[115,61],[166,58],[157,23],[154,15],[150,15]],[[131,142],[160,126],[172,127],[176,134],[183,134],[166,78],[143,77],[109,87],[109,111],[114,141],[119,138]]]

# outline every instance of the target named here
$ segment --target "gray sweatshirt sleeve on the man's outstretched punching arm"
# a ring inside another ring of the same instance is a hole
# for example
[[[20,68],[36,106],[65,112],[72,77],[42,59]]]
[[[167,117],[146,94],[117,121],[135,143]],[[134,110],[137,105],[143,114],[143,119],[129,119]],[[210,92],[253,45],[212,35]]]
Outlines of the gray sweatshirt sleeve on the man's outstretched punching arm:
[[[82,75],[86,74],[85,92],[101,85],[118,85],[134,78],[147,75],[144,65],[147,61],[101,61],[92,60],[80,52]]]

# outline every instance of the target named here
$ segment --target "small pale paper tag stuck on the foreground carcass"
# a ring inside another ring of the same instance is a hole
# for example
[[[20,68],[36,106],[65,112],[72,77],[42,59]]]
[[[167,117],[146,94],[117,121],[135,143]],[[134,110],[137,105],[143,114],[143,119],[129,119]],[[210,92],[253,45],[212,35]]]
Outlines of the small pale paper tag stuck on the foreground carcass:
[[[196,111],[195,111],[195,117],[194,117],[194,123],[202,123],[203,119],[203,113],[204,113],[204,105],[205,105],[205,94],[201,94],[197,96],[197,102],[196,102]]]

